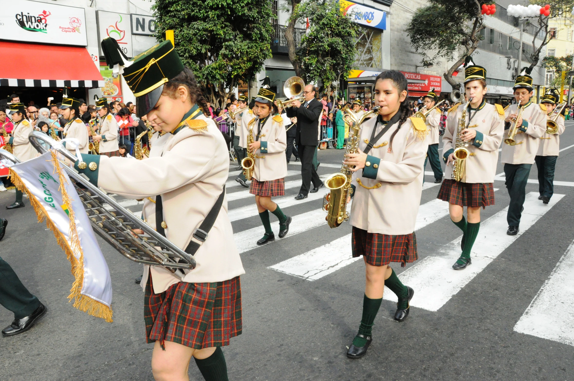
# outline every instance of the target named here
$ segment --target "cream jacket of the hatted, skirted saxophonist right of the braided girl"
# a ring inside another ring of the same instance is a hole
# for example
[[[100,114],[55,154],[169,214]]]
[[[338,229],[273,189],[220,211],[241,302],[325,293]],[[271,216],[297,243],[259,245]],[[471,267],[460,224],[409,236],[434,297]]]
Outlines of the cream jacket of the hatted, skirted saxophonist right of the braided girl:
[[[452,109],[451,109],[452,110]],[[462,115],[464,105],[459,105],[448,113],[447,123],[443,135],[443,160],[448,158],[455,149],[458,120]],[[494,182],[498,162],[498,147],[502,142],[504,133],[504,110],[502,106],[489,104],[483,101],[474,114],[474,110],[467,110],[465,126],[476,130],[476,137],[466,146],[470,156],[466,160],[466,174],[462,182],[489,183]],[[470,124],[468,119],[472,116]],[[446,162],[446,161],[445,161]],[[452,178],[452,162],[444,170],[444,178]]]

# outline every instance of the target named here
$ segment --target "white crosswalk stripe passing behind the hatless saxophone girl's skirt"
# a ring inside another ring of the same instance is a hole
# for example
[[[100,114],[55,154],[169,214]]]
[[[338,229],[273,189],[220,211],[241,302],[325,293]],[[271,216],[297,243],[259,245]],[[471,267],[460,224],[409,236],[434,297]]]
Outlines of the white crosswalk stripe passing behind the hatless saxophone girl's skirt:
[[[435,199],[422,204],[418,208],[414,230],[422,229],[446,215],[448,215],[448,203],[443,200]],[[333,242],[270,266],[269,269],[308,281],[316,281],[360,259],[352,258],[351,255],[351,234],[347,234]]]

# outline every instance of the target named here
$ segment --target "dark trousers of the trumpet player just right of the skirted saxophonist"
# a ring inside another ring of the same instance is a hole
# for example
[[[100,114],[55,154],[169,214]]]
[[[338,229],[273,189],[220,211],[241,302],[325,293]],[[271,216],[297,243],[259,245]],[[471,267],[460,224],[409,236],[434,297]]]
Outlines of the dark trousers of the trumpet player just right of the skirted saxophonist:
[[[506,221],[509,226],[519,226],[522,216],[522,205],[526,198],[526,183],[530,174],[532,164],[505,164],[504,173],[506,176],[506,189],[510,195],[510,205]]]

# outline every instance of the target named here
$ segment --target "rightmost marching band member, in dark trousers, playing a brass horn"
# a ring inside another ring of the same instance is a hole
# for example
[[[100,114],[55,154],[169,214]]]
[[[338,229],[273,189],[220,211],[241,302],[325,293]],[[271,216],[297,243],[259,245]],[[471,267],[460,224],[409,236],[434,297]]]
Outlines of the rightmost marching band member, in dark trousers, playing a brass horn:
[[[542,96],[540,103],[546,106],[548,120],[554,118],[553,111],[558,102],[560,102],[560,94],[555,88],[549,89],[548,93]],[[540,192],[538,200],[542,200],[542,204],[548,204],[554,193],[554,168],[560,151],[560,135],[565,129],[564,115],[558,116],[556,124],[558,131],[556,134],[544,133],[544,137],[540,138],[536,157],[534,157],[538,169],[538,192]]]

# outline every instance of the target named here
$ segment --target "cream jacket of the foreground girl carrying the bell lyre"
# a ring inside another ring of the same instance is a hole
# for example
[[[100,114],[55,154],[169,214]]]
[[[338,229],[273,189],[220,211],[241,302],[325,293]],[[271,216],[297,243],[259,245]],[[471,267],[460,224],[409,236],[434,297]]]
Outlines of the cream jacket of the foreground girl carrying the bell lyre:
[[[97,184],[107,192],[145,199],[142,217],[154,228],[156,208],[147,197],[161,195],[166,237],[184,250],[218,199],[229,174],[229,155],[222,133],[203,114],[195,120],[198,119],[205,120],[207,126],[186,126],[175,135],[163,135],[154,142],[150,157],[145,160],[106,155],[88,155],[85,160],[98,158]],[[90,174],[89,169],[84,173]],[[194,258],[197,267],[186,271],[184,282],[222,282],[245,274],[227,216],[227,197]],[[150,273],[154,293],[179,282],[163,267],[152,266]],[[142,283],[146,280],[144,273]]]

